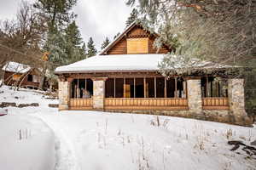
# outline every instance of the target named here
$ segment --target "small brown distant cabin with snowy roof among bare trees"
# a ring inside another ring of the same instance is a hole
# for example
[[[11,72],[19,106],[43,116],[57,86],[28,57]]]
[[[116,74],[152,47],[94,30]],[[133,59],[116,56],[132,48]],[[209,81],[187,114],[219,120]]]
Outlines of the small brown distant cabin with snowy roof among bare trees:
[[[9,62],[3,66],[4,84],[18,85],[23,88],[38,88],[41,72],[37,68],[17,62]]]

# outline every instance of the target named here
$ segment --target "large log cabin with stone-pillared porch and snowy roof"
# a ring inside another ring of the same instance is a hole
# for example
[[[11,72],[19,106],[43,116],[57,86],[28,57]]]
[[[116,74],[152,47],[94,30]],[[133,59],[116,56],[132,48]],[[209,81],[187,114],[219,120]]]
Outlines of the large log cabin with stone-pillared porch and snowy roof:
[[[132,23],[100,54],[57,67],[59,110],[183,116],[251,125],[244,108],[242,78],[221,74],[163,77],[158,63],[172,47],[154,48],[158,36]],[[215,81],[218,77],[222,81]]]

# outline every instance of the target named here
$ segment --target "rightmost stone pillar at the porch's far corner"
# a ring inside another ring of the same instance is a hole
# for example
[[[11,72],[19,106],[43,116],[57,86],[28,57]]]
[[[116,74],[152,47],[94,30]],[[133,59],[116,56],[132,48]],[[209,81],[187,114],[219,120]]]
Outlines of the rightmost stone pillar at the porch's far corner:
[[[229,79],[228,94],[230,102],[230,112],[233,113],[234,116],[247,116],[244,101],[244,80]]]

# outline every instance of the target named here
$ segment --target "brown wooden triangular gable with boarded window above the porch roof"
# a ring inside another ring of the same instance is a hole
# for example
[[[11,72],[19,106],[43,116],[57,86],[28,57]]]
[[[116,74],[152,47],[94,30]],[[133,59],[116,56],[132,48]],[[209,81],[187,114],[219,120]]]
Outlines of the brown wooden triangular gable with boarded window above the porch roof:
[[[156,34],[144,30],[142,26],[133,25],[102,54],[166,54],[170,52],[171,48],[166,45],[159,50],[154,47],[156,37]]]

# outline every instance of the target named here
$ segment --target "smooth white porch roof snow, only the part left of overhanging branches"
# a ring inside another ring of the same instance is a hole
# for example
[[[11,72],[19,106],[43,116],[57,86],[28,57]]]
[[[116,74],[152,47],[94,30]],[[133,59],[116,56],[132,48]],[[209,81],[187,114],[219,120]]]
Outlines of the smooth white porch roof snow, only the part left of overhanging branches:
[[[156,71],[164,54],[96,55],[71,65],[57,67],[55,72],[77,71]]]

